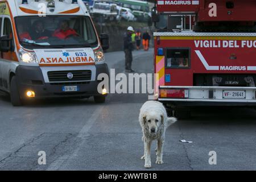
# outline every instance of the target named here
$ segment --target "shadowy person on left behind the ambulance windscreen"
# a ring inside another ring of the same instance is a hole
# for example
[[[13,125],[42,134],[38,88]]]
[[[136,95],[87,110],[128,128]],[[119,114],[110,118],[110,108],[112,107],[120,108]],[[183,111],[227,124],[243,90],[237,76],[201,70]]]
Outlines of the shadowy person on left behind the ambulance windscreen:
[[[31,38],[33,40],[48,39],[52,35],[52,32],[44,28],[44,22],[36,20],[32,25]]]

